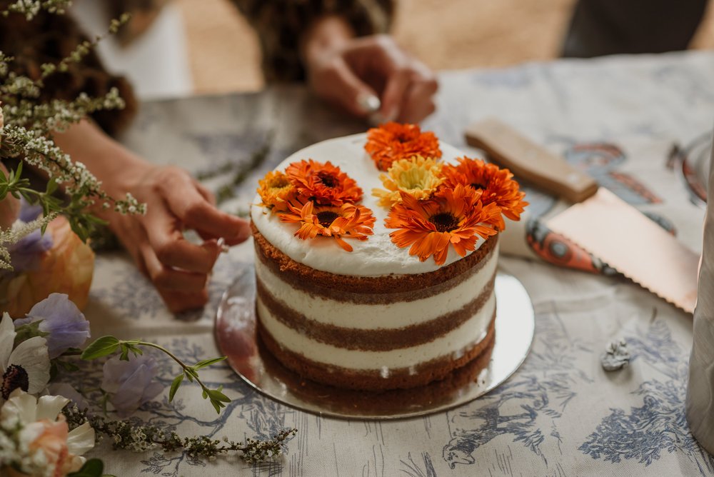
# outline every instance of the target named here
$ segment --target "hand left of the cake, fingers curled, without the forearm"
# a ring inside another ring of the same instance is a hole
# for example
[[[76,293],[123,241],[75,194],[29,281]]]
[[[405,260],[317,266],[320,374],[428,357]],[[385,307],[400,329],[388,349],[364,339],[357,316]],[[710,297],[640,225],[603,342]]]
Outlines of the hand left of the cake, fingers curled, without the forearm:
[[[175,313],[199,308],[208,301],[208,280],[226,245],[245,241],[248,223],[214,206],[210,191],[184,171],[171,166],[146,167],[121,189],[146,204],[146,215],[109,214],[109,226],[131,253],[139,270],[156,286]],[[195,230],[203,243],[184,239]]]

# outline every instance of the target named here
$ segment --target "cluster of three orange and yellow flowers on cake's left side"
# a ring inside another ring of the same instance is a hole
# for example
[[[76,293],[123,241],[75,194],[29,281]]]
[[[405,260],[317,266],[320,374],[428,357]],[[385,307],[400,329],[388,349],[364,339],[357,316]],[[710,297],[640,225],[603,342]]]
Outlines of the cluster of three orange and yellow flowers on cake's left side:
[[[344,239],[363,241],[373,234],[372,211],[358,205],[362,189],[330,162],[296,161],[284,173],[268,172],[258,181],[258,195],[260,206],[268,207],[283,222],[299,225],[298,239],[329,237],[351,252],[352,246]]]

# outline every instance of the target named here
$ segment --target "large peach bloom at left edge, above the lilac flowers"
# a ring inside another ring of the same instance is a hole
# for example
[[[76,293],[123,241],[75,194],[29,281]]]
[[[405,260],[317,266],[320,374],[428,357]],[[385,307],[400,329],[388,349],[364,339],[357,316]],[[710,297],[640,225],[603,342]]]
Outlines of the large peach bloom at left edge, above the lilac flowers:
[[[39,268],[0,281],[0,309],[13,318],[25,316],[50,293],[66,293],[79,309],[89,299],[94,251],[71,231],[64,217],[51,221],[45,233],[52,237],[52,248],[41,257]]]

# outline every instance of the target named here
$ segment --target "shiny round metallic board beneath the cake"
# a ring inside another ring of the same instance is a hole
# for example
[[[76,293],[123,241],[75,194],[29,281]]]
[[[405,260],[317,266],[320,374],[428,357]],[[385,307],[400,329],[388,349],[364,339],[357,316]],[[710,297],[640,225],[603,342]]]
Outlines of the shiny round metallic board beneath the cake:
[[[268,397],[321,416],[370,420],[423,416],[473,401],[506,381],[528,356],[535,321],[521,282],[496,276],[496,339],[479,358],[435,383],[398,391],[348,391],[301,378],[266,351],[256,333],[255,272],[244,263],[216,313],[216,343],[228,363]]]

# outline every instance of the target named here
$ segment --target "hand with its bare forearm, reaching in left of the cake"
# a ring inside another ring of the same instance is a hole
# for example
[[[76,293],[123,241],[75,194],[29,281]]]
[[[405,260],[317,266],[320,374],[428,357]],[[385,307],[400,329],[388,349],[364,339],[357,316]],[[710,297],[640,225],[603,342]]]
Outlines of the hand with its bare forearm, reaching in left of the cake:
[[[57,144],[103,182],[115,198],[129,192],[146,204],[146,215],[96,211],[119,237],[141,270],[154,283],[171,311],[203,306],[208,278],[227,245],[250,236],[248,223],[218,211],[213,196],[183,169],[154,166],[126,151],[93,124],[73,126],[58,134]],[[192,229],[203,243],[183,238]]]

